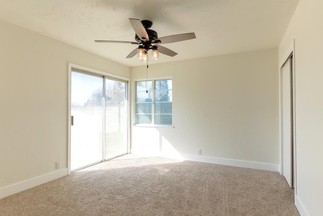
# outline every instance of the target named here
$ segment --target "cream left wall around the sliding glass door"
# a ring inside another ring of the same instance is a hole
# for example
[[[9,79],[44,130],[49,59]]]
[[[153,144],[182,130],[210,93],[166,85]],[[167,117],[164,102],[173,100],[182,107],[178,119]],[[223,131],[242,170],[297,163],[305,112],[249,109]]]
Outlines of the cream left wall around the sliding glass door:
[[[0,29],[1,189],[56,161],[67,168],[69,62],[127,78],[130,68],[5,21]]]

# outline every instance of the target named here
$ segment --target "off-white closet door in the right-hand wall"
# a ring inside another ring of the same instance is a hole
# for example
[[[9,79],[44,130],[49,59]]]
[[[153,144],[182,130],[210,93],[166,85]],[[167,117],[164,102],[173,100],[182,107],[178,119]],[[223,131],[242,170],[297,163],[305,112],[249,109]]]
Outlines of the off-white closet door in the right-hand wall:
[[[290,187],[293,187],[293,115],[292,115],[292,58],[289,58],[281,70],[282,99],[282,151],[283,170]]]

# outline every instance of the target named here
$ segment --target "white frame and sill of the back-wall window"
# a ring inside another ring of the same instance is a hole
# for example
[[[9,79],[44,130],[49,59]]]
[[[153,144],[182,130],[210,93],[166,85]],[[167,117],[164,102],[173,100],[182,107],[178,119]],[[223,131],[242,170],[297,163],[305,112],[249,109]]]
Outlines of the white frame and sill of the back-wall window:
[[[134,80],[133,83],[133,118],[132,118],[132,126],[139,126],[139,127],[174,127],[173,126],[173,99],[172,99],[172,113],[170,113],[170,115],[172,115],[172,125],[170,124],[154,124],[155,122],[155,81],[158,80],[168,80],[171,79],[173,82],[173,78],[172,77],[161,77],[161,78],[151,78],[151,79],[138,79],[138,80]],[[137,85],[136,82],[142,82],[142,81],[152,81],[152,97],[153,97],[153,101],[152,101],[152,119],[151,119],[151,124],[137,124],[137,113],[136,113],[136,104],[137,104]],[[172,83],[172,94],[173,94],[173,83]]]

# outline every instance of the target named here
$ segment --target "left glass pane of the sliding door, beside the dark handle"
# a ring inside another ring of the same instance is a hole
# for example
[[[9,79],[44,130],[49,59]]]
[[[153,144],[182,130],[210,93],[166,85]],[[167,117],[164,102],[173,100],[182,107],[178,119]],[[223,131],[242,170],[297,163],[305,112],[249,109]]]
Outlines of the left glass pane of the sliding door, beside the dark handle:
[[[72,72],[71,170],[102,160],[103,78]]]

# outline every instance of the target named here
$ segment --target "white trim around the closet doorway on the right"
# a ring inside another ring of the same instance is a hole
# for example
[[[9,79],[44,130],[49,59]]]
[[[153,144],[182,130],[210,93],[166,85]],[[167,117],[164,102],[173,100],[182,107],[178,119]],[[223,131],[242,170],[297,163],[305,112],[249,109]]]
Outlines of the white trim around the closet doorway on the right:
[[[293,39],[292,44],[290,45],[290,47],[288,48],[287,52],[285,53],[285,55],[283,56],[283,58],[281,59],[280,63],[279,63],[279,127],[280,127],[280,174],[283,175],[283,122],[282,122],[282,78],[281,78],[281,74],[282,74],[282,68],[283,65],[285,64],[285,62],[291,57],[293,56],[293,61],[292,61],[292,74],[291,74],[291,84],[292,84],[292,140],[293,140],[293,152],[292,152],[292,159],[293,159],[293,186],[294,186],[294,190],[295,190],[295,196],[297,195],[297,164],[296,164],[296,103],[295,103],[295,39]]]

